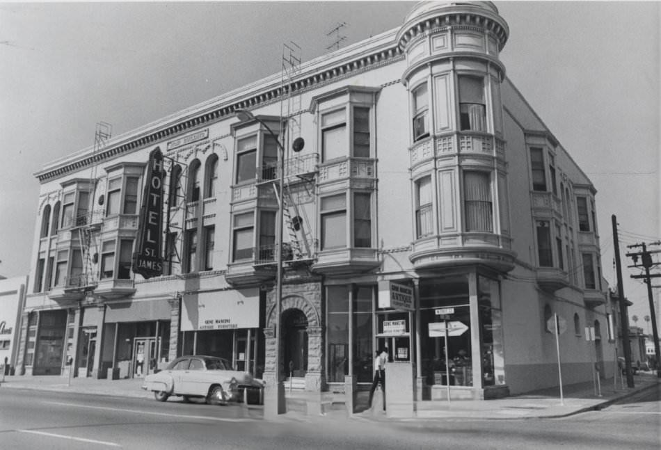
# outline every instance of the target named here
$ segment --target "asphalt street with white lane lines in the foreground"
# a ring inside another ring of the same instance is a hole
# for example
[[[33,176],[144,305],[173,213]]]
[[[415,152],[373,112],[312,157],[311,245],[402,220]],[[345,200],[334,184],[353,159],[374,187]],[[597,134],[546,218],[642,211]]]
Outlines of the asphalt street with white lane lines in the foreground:
[[[0,449],[655,449],[658,385],[562,419],[264,421],[241,405],[0,391]]]

